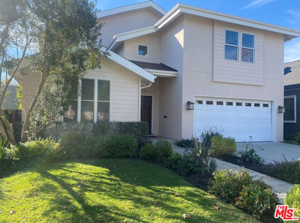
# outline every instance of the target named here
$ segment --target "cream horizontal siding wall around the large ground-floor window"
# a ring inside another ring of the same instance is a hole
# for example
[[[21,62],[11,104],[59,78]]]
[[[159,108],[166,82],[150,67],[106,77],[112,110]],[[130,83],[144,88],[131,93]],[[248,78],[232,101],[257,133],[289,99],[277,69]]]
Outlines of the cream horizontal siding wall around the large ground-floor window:
[[[89,70],[85,77],[111,81],[110,120],[139,121],[139,78],[116,66],[109,59],[103,58],[101,67],[101,69]],[[36,73],[23,76],[23,100],[26,105],[32,102],[32,95],[38,88],[39,78]],[[61,117],[58,120],[61,120]]]

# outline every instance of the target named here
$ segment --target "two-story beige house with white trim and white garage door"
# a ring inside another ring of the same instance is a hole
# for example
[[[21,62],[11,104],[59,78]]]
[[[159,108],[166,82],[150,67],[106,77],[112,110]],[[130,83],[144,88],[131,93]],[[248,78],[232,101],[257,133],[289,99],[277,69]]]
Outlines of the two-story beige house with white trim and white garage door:
[[[284,42],[300,31],[152,1],[97,16],[111,56],[82,79],[78,110],[62,121],[147,121],[150,133],[173,139],[221,125],[237,142],[283,141]],[[16,78],[29,104],[39,75]]]

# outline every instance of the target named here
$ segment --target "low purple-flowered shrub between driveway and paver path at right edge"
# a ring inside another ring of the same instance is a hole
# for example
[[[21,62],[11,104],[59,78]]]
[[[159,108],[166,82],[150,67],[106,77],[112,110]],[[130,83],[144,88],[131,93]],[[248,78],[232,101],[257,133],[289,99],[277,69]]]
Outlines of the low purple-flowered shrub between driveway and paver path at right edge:
[[[292,184],[300,184],[300,160],[288,161],[283,156],[281,162],[274,160],[274,163],[266,164],[264,173]]]

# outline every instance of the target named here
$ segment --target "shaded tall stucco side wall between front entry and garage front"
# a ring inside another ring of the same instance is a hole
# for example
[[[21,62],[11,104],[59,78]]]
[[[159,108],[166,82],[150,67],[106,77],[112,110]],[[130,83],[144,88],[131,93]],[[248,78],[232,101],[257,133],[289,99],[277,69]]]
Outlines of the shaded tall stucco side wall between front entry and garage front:
[[[160,61],[178,70],[178,77],[159,80],[159,135],[182,137],[183,16],[161,31]],[[167,118],[164,118],[167,116]]]

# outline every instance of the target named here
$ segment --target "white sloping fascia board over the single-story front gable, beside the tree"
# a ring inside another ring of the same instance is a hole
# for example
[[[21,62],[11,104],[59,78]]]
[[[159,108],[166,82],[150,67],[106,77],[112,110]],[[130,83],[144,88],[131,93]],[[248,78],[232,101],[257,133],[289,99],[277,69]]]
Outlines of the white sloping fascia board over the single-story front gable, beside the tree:
[[[125,69],[135,73],[137,76],[139,76],[142,79],[145,79],[146,82],[154,82],[155,76],[151,74],[150,72],[146,71],[145,69],[137,66],[136,64],[130,62],[129,60],[125,59],[124,57],[121,57],[120,55],[112,52],[109,50],[110,56],[108,56],[108,59],[113,60],[114,62],[118,63]]]

